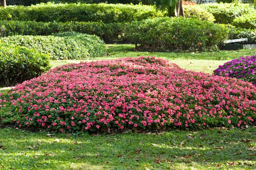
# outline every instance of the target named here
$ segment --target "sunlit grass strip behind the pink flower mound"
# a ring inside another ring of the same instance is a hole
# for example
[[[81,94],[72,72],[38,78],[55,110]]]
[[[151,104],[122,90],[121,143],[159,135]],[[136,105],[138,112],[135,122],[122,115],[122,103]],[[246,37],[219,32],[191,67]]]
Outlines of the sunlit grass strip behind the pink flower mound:
[[[224,64],[231,59],[238,58],[240,56],[252,56],[256,55],[255,50],[239,50],[239,51],[217,51],[217,52],[199,52],[199,53],[160,53],[160,52],[138,52],[132,51],[134,45],[121,44],[114,45],[109,44],[108,56],[98,57],[87,60],[63,60],[63,61],[51,61],[52,68],[58,65],[64,65],[73,62],[81,61],[93,61],[93,60],[106,60],[116,59],[122,57],[137,57],[137,56],[154,56],[163,59],[169,59],[170,62],[174,62],[181,68],[193,71],[203,71],[205,73],[212,73],[213,70],[218,68],[219,65]]]

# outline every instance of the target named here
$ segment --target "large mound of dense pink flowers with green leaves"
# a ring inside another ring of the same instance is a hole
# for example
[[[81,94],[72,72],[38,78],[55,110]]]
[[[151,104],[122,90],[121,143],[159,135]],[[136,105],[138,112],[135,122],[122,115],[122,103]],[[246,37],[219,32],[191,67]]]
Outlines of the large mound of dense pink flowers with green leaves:
[[[3,123],[61,132],[244,126],[256,119],[256,87],[125,58],[52,69],[1,94],[0,107]]]

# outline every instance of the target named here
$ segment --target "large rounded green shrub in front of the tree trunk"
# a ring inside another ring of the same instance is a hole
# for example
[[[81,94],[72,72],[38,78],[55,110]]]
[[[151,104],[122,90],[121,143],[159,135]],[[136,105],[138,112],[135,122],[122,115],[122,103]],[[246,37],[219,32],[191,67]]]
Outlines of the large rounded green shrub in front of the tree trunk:
[[[192,18],[174,17],[133,22],[125,27],[125,37],[142,49],[216,49],[228,37],[223,25]]]

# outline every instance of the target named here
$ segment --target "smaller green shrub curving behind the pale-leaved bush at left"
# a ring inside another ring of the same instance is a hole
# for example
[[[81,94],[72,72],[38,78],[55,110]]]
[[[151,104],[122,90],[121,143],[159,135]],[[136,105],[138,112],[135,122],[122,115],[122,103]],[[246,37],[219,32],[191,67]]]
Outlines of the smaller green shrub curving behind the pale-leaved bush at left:
[[[79,44],[84,45],[91,57],[102,57],[107,54],[105,43],[96,35],[81,34],[77,32],[60,32],[53,34],[56,37],[70,37]]]

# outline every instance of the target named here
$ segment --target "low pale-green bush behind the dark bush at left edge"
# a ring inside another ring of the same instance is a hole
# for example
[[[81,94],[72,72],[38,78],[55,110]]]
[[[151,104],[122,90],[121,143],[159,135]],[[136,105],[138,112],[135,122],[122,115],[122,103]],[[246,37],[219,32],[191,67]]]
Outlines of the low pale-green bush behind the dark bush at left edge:
[[[76,40],[73,37],[15,35],[3,37],[0,40],[8,44],[36,49],[38,52],[49,54],[53,60],[85,59],[92,57],[88,48],[84,44],[81,44],[81,40]],[[102,43],[98,45],[102,45]]]

